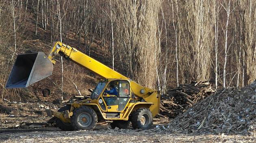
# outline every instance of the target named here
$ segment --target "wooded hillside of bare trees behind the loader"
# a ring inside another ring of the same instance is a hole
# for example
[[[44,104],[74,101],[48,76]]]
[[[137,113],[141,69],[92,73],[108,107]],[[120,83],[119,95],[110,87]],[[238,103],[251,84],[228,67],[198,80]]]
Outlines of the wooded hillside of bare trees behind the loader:
[[[195,80],[245,86],[256,79],[255,19],[254,0],[0,0],[0,99],[93,88],[97,77],[62,57],[53,76],[4,88],[17,54],[54,41],[161,93]]]

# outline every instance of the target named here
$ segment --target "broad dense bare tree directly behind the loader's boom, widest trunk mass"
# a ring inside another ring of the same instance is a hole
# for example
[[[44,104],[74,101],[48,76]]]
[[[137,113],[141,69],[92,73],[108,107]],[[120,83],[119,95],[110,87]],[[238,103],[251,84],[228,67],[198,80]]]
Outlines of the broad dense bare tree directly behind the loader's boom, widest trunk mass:
[[[115,0],[115,41],[131,78],[143,86],[156,86],[156,53],[158,50],[155,0]]]

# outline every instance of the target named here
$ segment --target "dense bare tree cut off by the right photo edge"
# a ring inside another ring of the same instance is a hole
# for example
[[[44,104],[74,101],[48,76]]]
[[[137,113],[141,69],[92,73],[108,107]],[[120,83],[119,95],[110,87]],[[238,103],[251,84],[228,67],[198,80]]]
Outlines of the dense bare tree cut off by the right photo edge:
[[[256,3],[254,0],[241,0],[239,2],[241,29],[244,33],[243,50],[243,81],[245,73],[247,83],[252,83],[256,79]],[[244,68],[246,67],[246,72]],[[244,86],[244,83],[243,83]]]

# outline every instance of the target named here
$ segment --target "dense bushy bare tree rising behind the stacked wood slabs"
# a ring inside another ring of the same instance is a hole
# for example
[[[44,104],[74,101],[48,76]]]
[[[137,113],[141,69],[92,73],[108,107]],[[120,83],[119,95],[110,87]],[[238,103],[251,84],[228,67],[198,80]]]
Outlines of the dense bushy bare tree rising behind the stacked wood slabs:
[[[179,4],[182,58],[181,73],[185,82],[209,80],[214,25],[211,0],[184,0]]]

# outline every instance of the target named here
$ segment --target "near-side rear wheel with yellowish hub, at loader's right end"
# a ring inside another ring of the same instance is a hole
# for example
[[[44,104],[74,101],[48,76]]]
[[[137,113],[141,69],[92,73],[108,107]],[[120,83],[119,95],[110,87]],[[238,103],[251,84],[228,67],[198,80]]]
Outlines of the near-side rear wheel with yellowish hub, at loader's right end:
[[[133,111],[132,114],[132,128],[148,130],[153,124],[152,113],[148,108],[139,108]]]

